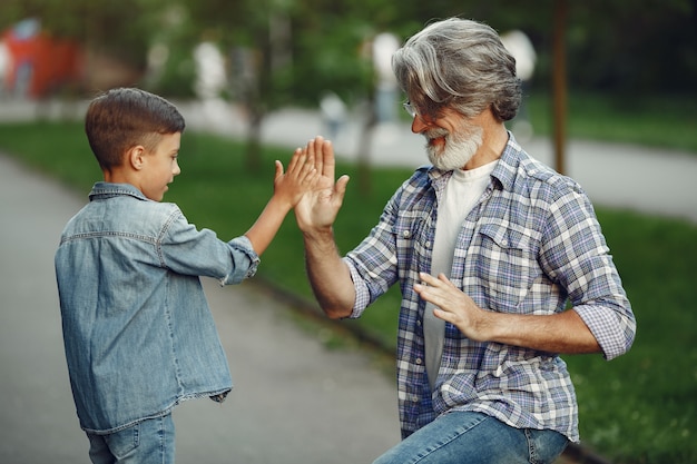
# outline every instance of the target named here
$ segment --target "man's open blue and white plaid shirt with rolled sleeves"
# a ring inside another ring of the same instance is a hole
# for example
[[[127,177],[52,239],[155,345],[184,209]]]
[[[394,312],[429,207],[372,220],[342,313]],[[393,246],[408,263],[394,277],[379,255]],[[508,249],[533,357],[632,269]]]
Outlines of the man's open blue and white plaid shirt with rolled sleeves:
[[[390,199],[371,234],[344,258],[356,288],[351,317],[395,283],[402,290],[396,372],[402,436],[449,411],[478,411],[514,427],[579,441],[566,363],[554,353],[479,343],[445,325],[434,392],[424,364],[423,310],[413,290],[431,270],[438,198],[452,171],[424,166]],[[512,136],[458,237],[451,279],[478,306],[550,315],[573,305],[603,356],[624,354],[636,320],[593,208],[572,179],[531,158]]]

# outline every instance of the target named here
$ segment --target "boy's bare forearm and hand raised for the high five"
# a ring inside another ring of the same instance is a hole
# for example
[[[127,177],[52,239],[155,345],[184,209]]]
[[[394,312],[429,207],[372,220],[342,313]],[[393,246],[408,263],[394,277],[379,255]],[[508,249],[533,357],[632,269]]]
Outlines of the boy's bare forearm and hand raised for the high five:
[[[285,174],[281,161],[276,161],[274,195],[245,234],[257,255],[261,256],[271,245],[286,215],[297,205],[301,197],[315,188],[317,178],[314,158],[308,157],[306,149],[295,150]]]

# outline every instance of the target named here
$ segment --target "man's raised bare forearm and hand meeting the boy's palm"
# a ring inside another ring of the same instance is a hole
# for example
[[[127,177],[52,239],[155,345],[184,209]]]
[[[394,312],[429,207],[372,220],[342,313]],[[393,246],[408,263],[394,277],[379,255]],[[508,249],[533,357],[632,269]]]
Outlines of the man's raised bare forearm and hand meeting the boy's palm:
[[[307,145],[320,172],[317,189],[306,194],[295,207],[303,233],[307,277],[317,303],[331,318],[347,317],[353,310],[355,289],[348,266],[342,260],[332,225],[341,209],[348,177],[334,181],[334,150],[317,137]]]

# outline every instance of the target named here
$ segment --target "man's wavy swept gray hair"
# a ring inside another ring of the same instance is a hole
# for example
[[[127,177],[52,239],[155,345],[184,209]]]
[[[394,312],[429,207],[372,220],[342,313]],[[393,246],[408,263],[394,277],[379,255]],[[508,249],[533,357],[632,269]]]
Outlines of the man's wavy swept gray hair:
[[[516,59],[491,27],[477,21],[450,18],[428,26],[393,55],[392,70],[424,116],[450,107],[474,117],[491,108],[508,121],[520,106]]]

